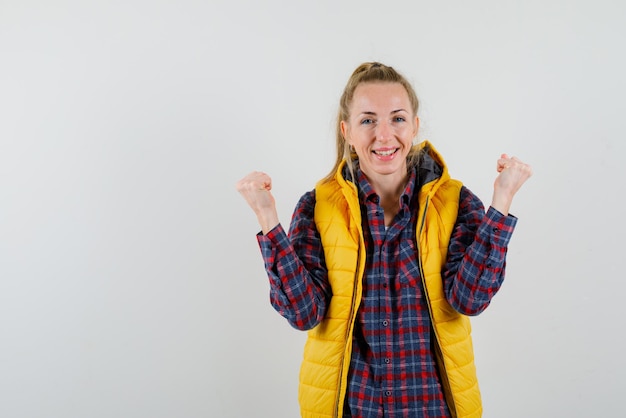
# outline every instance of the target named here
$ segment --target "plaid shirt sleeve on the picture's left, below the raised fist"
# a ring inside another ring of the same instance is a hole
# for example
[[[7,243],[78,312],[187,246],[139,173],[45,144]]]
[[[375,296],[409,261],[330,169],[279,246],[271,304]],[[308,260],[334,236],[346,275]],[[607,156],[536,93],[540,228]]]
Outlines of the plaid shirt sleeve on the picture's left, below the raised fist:
[[[294,211],[289,234],[282,225],[257,234],[270,282],[270,302],[294,327],[311,329],[326,314],[331,289],[315,221],[315,192],[304,194]]]

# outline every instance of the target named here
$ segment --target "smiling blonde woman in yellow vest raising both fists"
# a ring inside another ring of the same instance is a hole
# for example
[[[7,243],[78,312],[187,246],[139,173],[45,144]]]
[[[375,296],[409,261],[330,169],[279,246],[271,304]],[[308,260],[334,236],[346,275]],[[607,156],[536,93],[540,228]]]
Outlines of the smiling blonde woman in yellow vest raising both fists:
[[[237,189],[257,215],[271,303],[310,330],[303,417],[480,417],[468,315],[504,279],[513,196],[531,169],[502,155],[491,206],[419,128],[412,86],[380,63],[343,92],[337,161],[299,200],[287,235],[265,173]]]

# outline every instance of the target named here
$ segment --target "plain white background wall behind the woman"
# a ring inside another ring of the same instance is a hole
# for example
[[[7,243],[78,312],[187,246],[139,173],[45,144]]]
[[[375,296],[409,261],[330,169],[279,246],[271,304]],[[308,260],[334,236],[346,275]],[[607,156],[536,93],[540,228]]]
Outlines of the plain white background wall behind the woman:
[[[370,60],[486,203],[500,153],[535,171],[473,319],[484,416],[623,416],[625,4],[0,0],[0,416],[298,416],[234,185],[269,172],[287,225]]]

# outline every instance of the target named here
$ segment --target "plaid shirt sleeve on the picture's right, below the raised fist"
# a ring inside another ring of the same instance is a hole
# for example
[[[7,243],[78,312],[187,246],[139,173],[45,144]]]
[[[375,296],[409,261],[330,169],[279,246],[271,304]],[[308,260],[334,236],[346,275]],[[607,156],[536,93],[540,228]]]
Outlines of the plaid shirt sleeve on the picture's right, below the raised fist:
[[[446,298],[465,315],[484,311],[504,280],[506,253],[517,218],[461,188],[459,214],[442,271]]]

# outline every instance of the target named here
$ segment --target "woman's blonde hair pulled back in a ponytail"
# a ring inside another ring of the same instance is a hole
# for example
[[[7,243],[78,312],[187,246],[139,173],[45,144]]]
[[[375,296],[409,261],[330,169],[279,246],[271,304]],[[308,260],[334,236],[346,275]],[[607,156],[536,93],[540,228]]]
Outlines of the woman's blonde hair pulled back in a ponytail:
[[[417,115],[417,109],[419,107],[419,100],[415,94],[415,90],[411,83],[400,73],[394,70],[392,67],[381,64],[380,62],[366,62],[359,65],[348,79],[348,83],[343,90],[343,94],[339,99],[339,111],[337,113],[337,125],[336,125],[336,149],[337,158],[335,164],[330,173],[324,177],[323,182],[331,181],[335,177],[337,169],[341,163],[345,160],[352,182],[355,182],[354,165],[357,161],[357,155],[354,151],[350,150],[350,144],[346,141],[341,131],[341,122],[347,121],[350,117],[350,105],[354,98],[354,91],[362,83],[399,83],[406,90],[409,101],[411,102],[411,108],[413,115]],[[407,156],[407,166],[412,167],[417,164],[420,151],[417,148],[413,148]]]

